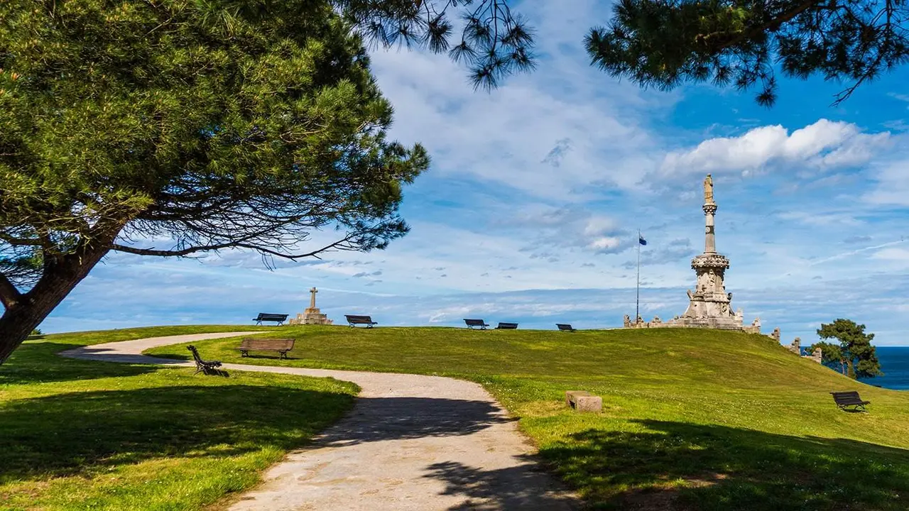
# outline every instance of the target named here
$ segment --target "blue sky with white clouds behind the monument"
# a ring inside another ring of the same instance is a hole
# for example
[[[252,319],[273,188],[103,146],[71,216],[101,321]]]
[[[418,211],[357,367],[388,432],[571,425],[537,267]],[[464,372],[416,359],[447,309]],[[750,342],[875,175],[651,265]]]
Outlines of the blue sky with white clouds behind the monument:
[[[909,345],[909,68],[859,88],[781,80],[753,94],[692,85],[644,90],[592,68],[582,39],[608,3],[519,5],[537,29],[537,70],[474,92],[445,55],[374,52],[395,105],[391,135],[423,143],[429,172],[405,190],[412,231],[385,251],[335,253],[266,270],[258,255],[200,260],[111,255],[49,316],[46,332],[251,323],[295,314],[320,289],[335,321],[457,326],[621,326],[684,312],[704,250],[701,183],[714,175],[717,250],[746,321],[784,342],[836,317],[879,345]],[[324,233],[316,236],[316,241]]]

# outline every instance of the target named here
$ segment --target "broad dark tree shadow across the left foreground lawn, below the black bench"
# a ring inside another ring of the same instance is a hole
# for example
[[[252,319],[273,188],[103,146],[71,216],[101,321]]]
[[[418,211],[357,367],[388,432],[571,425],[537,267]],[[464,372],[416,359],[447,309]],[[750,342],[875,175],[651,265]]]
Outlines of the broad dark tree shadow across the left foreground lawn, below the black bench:
[[[91,476],[167,456],[235,456],[263,446],[289,450],[343,415],[353,399],[286,386],[222,384],[14,400],[0,406],[0,483]]]

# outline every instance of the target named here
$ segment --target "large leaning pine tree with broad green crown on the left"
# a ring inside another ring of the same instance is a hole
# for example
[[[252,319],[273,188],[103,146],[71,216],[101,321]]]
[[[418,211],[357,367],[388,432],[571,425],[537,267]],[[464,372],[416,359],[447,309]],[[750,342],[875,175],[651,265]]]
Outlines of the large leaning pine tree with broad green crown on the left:
[[[387,139],[331,3],[9,0],[0,20],[0,362],[109,250],[268,264],[407,232],[429,159]]]

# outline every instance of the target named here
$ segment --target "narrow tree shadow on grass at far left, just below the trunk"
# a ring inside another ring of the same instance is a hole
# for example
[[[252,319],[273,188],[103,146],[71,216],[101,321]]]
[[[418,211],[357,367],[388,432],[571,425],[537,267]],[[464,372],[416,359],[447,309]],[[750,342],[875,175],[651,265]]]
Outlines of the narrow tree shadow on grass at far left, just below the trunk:
[[[41,382],[63,382],[138,376],[154,373],[154,366],[110,364],[94,360],[65,358],[57,354],[81,347],[64,343],[25,343],[0,365],[0,385],[27,385]]]

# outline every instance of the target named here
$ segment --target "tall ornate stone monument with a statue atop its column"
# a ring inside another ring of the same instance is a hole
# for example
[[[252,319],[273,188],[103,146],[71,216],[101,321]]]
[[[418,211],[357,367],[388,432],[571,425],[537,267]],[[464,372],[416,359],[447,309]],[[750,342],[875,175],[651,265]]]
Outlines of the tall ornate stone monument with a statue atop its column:
[[[732,307],[733,294],[726,292],[725,272],[729,269],[729,259],[716,252],[716,235],[714,232],[714,215],[716,215],[716,202],[714,202],[714,179],[711,175],[704,178],[704,254],[695,255],[691,261],[691,268],[696,276],[694,292],[688,290],[688,308],[682,316],[661,322],[659,318],[641,324],[626,326],[659,327],[659,326],[701,326],[706,328],[721,328],[724,330],[743,330],[754,334],[761,333],[760,319],[755,319],[751,325],[743,325],[744,314],[742,309],[734,311]],[[627,316],[626,316],[627,317]]]

